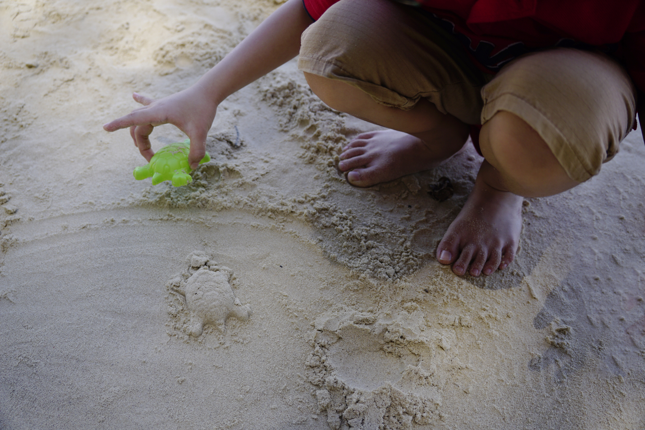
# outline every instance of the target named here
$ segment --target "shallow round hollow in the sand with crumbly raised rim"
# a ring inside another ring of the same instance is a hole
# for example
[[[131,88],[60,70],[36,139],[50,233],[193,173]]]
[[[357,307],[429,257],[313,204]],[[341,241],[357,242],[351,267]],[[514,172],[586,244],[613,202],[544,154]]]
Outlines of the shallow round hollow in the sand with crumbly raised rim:
[[[314,326],[308,381],[318,387],[331,429],[410,429],[439,416],[445,342],[435,347],[436,336],[419,335],[417,324],[392,315],[332,312]]]

